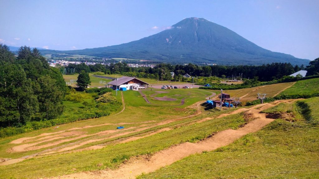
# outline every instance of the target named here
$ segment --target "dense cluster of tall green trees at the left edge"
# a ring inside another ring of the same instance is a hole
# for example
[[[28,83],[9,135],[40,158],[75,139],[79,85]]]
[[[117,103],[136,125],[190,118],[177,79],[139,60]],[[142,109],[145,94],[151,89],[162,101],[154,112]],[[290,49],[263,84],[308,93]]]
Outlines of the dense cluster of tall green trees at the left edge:
[[[62,74],[38,49],[20,47],[15,56],[0,44],[0,127],[56,118],[66,91]]]

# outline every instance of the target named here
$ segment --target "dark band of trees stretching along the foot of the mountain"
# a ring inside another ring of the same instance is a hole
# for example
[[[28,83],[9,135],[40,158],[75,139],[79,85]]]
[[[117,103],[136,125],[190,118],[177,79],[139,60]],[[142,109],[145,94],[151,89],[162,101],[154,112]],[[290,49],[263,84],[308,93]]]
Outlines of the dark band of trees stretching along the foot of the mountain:
[[[319,59],[319,58],[318,58]],[[85,65],[69,64],[67,73],[75,69],[76,73],[84,70],[85,72],[104,72],[105,74],[122,74],[128,76],[137,76],[144,78],[152,78],[159,80],[173,80],[180,81],[182,76],[189,74],[191,76],[216,76],[221,78],[246,78],[252,79],[258,77],[259,81],[272,81],[278,80],[283,76],[291,75],[299,70],[308,70],[307,76],[316,75],[319,73],[318,59],[310,61],[309,66],[303,65],[293,66],[291,63],[271,63],[259,66],[239,65],[239,66],[226,66],[226,65],[212,65],[212,66],[199,66],[195,64],[187,65],[171,65],[166,63],[157,64],[154,68],[150,67],[129,67],[125,62],[111,63],[110,65],[95,64]],[[174,72],[172,77],[170,72]]]

